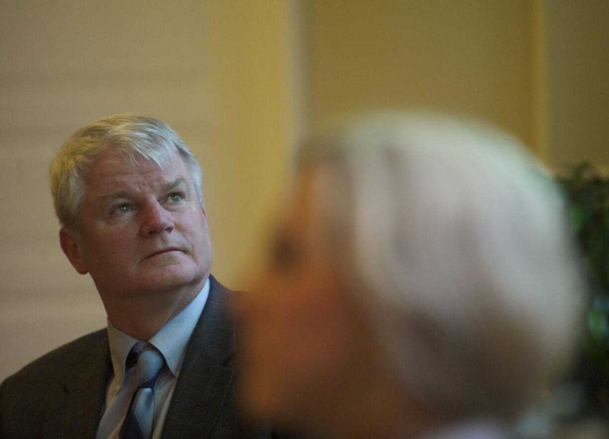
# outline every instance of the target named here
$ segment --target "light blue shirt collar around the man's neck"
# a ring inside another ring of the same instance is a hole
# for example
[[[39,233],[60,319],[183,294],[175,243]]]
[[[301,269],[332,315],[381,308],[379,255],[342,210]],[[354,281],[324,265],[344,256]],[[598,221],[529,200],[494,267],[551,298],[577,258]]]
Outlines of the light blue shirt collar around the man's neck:
[[[175,377],[180,374],[182,362],[186,354],[186,345],[188,345],[192,331],[194,331],[194,327],[197,325],[197,321],[199,321],[208,296],[209,278],[197,297],[174,318],[167,321],[163,328],[148,340],[163,355],[167,367]],[[138,341],[119,329],[114,328],[108,320],[108,342],[110,343],[112,368],[115,379],[122,383],[119,390],[124,385],[127,355]]]

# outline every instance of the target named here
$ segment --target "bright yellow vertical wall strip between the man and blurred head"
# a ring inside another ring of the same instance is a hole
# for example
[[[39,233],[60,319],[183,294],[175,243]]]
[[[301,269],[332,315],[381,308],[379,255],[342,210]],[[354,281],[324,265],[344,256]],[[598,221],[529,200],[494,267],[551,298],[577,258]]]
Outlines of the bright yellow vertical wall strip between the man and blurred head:
[[[219,161],[209,192],[214,273],[241,276],[264,245],[281,194],[294,120],[292,8],[284,0],[209,2],[206,23],[214,113],[209,132]],[[217,197],[217,198],[215,198]]]

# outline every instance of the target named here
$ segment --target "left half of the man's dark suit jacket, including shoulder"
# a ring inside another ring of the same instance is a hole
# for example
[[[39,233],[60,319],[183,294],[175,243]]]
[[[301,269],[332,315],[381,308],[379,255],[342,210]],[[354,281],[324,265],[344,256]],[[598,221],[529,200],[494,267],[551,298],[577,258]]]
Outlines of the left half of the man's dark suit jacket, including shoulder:
[[[102,329],[44,354],[5,379],[0,384],[0,437],[82,437],[63,434],[63,429],[76,431],[99,421],[109,350],[107,330]],[[78,398],[70,400],[76,391]]]

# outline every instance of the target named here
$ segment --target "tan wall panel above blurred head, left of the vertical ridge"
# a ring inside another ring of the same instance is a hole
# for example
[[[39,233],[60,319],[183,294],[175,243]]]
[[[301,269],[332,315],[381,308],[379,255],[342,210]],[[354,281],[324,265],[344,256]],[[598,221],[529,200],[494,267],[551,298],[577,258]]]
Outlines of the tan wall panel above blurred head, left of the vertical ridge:
[[[428,108],[484,118],[533,142],[530,0],[306,4],[312,120]]]

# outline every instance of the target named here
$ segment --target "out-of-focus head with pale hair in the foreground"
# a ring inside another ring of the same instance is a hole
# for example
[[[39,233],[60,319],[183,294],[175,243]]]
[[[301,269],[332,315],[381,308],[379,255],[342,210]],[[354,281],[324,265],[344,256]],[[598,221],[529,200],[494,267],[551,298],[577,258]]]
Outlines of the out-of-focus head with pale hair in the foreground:
[[[245,407],[330,437],[509,420],[574,343],[564,208],[494,128],[382,114],[315,132],[241,308]]]

